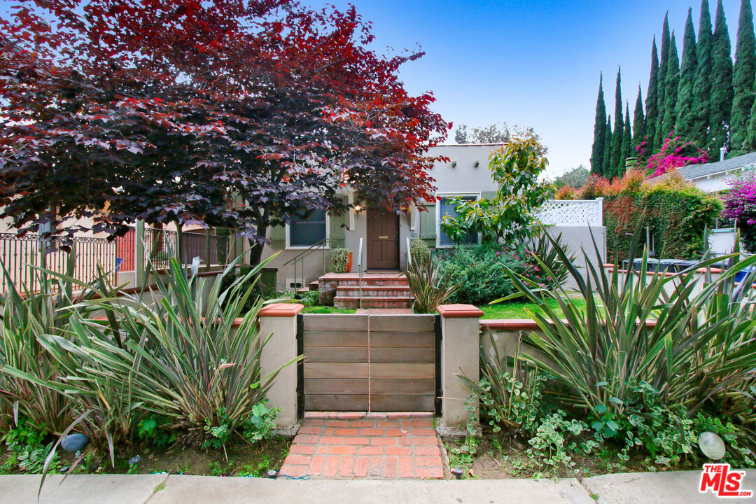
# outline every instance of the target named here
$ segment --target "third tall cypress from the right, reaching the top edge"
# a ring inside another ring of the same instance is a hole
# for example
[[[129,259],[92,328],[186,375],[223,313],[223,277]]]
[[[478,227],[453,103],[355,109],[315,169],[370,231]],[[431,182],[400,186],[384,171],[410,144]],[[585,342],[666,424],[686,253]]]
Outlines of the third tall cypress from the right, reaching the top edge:
[[[711,39],[711,14],[708,0],[701,2],[699,42],[696,45],[696,78],[693,82],[693,122],[690,139],[705,148],[709,134],[711,110],[711,70],[714,65]]]

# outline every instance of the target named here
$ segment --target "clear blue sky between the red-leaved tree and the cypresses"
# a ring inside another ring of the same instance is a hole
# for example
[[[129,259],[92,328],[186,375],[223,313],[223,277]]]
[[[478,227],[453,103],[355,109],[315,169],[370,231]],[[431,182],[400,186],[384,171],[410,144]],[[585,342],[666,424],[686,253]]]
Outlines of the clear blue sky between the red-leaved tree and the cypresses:
[[[714,23],[717,2],[710,2]],[[348,2],[333,3],[345,8]],[[652,37],[661,38],[665,11],[680,52],[688,7],[696,36],[701,7],[700,0],[349,3],[373,22],[376,51],[417,45],[426,51],[401,71],[409,91],[433,91],[434,110],[455,127],[500,121],[534,127],[549,147],[552,176],[589,165],[600,71],[613,114],[622,67],[622,96],[630,100],[632,117],[639,82],[646,99]],[[734,53],[740,0],[724,0],[723,6]]]

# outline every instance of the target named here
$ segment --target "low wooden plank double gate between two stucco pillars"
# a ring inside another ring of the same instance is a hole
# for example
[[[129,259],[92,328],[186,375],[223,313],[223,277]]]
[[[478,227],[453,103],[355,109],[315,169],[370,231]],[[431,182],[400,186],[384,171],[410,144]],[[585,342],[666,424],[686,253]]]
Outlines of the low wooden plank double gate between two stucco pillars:
[[[306,411],[434,411],[435,315],[300,316]]]

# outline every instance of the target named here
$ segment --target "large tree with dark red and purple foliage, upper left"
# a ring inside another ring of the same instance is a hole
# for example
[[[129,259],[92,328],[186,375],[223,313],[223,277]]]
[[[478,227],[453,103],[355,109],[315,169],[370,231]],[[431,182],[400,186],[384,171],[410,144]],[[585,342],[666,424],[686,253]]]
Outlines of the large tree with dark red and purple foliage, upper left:
[[[21,2],[0,19],[0,205],[20,230],[72,216],[267,228],[339,188],[399,212],[431,198],[449,125],[354,8],[290,0]],[[101,212],[107,209],[107,212]],[[69,228],[69,233],[77,229]]]

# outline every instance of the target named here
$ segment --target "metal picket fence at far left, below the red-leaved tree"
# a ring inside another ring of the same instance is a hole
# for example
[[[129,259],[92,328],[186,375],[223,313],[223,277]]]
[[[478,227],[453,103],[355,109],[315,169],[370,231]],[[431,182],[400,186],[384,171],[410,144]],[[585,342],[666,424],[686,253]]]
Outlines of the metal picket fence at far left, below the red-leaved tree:
[[[73,277],[89,283],[98,277],[98,267],[112,281],[116,282],[116,242],[107,238],[74,237],[67,245],[70,252],[60,247],[61,243],[44,240],[39,234],[0,233],[0,263],[8,274],[2,275],[0,289],[8,291],[12,282],[23,292],[38,291],[42,287],[40,271],[45,267],[57,274],[68,274],[73,266]]]

